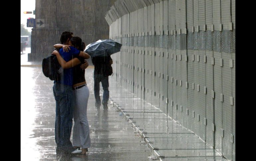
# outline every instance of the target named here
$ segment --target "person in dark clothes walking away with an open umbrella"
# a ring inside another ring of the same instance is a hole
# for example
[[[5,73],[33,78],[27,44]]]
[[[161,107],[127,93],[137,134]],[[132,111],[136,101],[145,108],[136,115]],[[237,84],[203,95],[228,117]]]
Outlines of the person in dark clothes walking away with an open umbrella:
[[[100,108],[101,100],[99,96],[99,83],[101,82],[103,87],[103,99],[102,105],[103,109],[107,109],[109,90],[108,90],[108,76],[112,72],[111,64],[113,63],[111,54],[119,52],[122,44],[115,42],[113,40],[98,40],[96,42],[90,43],[86,46],[85,52],[91,55],[91,60],[94,65],[94,97],[95,97],[95,107]]]

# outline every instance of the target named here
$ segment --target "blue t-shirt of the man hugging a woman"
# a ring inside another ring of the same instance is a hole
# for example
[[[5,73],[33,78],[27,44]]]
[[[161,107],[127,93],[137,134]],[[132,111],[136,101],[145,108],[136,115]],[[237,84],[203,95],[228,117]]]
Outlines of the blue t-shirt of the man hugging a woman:
[[[73,56],[78,56],[80,50],[77,48],[70,46],[70,50],[68,52],[64,52],[63,48],[60,49],[60,54],[62,58],[68,62],[69,60],[73,59]],[[57,83],[61,83],[64,85],[71,86],[73,84],[73,68],[64,69],[62,72],[61,81],[56,81]]]

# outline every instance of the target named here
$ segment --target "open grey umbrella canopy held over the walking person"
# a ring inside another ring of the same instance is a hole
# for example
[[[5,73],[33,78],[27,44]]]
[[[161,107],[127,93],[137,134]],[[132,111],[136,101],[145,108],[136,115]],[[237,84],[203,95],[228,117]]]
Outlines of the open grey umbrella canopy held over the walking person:
[[[85,48],[85,52],[92,57],[96,56],[109,56],[116,52],[119,52],[122,44],[115,42],[111,39],[98,40],[88,44]]]

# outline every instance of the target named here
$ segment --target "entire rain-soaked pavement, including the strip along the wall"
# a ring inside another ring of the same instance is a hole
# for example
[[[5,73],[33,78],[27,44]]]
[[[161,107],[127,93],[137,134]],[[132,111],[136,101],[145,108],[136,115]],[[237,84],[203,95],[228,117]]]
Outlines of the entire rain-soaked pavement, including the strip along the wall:
[[[53,81],[43,75],[40,64],[21,60],[21,160],[58,160]],[[90,90],[87,117],[91,148],[87,155],[77,155],[71,160],[226,161],[192,131],[122,88],[112,76],[109,108],[97,111],[93,67],[86,69],[85,76]]]

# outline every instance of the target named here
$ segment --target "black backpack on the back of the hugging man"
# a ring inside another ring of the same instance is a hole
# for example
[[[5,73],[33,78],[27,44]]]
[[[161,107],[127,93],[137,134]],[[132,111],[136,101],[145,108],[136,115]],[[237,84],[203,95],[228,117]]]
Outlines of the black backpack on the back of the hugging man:
[[[42,70],[44,75],[50,80],[61,80],[63,68],[61,67],[56,55],[50,55],[43,59]]]

